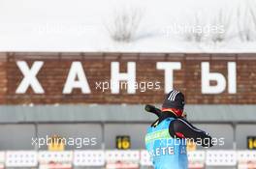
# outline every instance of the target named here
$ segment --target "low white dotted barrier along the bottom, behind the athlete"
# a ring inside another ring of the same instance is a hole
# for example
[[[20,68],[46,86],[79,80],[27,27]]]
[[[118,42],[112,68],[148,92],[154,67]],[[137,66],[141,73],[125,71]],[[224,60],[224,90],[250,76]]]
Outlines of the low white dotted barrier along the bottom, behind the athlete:
[[[256,168],[256,151],[188,152],[189,168]],[[7,151],[0,152],[0,168],[140,168],[151,167],[145,150],[134,151]]]

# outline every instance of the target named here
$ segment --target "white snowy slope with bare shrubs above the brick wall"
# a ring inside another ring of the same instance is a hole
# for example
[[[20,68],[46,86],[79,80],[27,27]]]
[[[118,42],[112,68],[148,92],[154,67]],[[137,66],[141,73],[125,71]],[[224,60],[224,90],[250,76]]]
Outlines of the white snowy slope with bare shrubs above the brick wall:
[[[256,52],[256,1],[0,0],[0,50]]]

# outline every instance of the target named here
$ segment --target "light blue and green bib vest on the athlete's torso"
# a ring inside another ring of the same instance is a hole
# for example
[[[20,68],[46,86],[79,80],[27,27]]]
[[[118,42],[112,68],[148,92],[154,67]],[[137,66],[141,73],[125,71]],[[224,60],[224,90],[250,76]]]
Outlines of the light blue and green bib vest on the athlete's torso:
[[[167,118],[147,129],[145,146],[155,169],[187,169],[185,139],[173,138],[169,132],[173,120]]]

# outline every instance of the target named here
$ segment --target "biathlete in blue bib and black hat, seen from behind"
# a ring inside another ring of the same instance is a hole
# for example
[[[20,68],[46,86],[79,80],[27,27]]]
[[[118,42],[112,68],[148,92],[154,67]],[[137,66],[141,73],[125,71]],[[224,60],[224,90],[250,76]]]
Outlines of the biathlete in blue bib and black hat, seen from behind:
[[[187,140],[203,147],[212,146],[207,132],[187,122],[184,105],[184,95],[173,90],[164,99],[161,110],[145,106],[146,111],[158,117],[145,135],[145,147],[155,169],[187,169]]]

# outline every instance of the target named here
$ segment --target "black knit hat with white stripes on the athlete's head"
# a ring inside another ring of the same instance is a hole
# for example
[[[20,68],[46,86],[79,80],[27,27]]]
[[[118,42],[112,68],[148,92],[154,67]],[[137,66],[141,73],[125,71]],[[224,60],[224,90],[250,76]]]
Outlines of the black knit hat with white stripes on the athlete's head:
[[[183,110],[184,105],[184,95],[179,91],[173,90],[169,94],[167,94],[166,98],[164,99],[162,108],[177,108]]]

